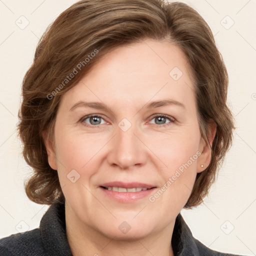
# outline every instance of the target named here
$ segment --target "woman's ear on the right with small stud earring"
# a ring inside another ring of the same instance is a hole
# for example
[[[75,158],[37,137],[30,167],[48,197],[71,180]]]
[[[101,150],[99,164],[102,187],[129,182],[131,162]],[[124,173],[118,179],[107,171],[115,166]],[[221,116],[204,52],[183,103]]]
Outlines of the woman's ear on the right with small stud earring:
[[[216,134],[217,124],[211,119],[208,123],[208,133],[207,133],[207,140],[201,137],[200,144],[199,144],[199,151],[201,152],[200,156],[197,160],[197,172],[201,172],[206,169],[206,167],[210,163],[211,159],[211,146],[213,139]],[[203,165],[203,167],[201,167]]]

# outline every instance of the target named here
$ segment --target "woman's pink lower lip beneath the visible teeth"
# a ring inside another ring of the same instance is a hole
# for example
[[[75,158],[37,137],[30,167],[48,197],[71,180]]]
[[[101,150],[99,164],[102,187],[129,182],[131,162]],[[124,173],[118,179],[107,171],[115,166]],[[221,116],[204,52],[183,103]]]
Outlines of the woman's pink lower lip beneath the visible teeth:
[[[156,187],[154,187],[154,188],[141,190],[137,192],[117,192],[117,191],[105,189],[103,187],[99,187],[99,188],[101,189],[101,191],[103,191],[104,194],[106,194],[107,196],[119,202],[133,202],[138,199],[144,198],[146,196],[148,197],[156,189]]]

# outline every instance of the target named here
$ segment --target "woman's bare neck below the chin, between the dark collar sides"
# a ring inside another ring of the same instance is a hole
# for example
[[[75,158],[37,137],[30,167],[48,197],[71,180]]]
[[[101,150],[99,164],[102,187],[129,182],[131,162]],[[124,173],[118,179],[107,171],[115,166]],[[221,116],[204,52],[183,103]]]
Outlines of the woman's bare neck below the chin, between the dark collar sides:
[[[108,237],[91,226],[77,220],[71,210],[65,210],[67,240],[73,256],[174,256],[171,247],[171,236],[174,221],[161,232],[146,237],[128,240]]]

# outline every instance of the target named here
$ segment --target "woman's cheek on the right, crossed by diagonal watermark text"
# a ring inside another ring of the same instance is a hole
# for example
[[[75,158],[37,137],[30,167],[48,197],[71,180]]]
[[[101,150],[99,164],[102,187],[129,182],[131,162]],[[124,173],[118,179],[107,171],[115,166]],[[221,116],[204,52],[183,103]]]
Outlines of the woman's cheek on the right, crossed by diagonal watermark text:
[[[197,173],[200,141],[199,129],[168,134],[154,141],[152,148],[162,162],[162,200],[166,205],[185,204]],[[166,192],[165,192],[166,191]],[[175,195],[175,196],[173,196]],[[157,196],[157,195],[156,195]]]

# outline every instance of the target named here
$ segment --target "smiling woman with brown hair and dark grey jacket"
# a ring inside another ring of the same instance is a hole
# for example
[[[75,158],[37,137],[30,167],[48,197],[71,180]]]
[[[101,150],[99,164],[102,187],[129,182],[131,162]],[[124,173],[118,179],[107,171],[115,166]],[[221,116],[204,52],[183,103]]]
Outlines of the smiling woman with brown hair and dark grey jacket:
[[[231,255],[180,215],[231,145],[227,83],[212,32],[184,3],[62,12],[23,79],[18,126],[26,194],[51,206],[39,228],[1,239],[1,255]]]

